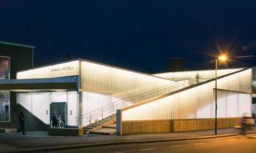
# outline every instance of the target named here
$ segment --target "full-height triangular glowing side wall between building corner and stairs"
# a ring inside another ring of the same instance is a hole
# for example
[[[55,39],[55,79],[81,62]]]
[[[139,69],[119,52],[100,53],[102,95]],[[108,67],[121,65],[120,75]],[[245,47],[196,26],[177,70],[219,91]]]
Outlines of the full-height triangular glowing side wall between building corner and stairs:
[[[80,66],[80,89],[83,91],[83,125],[89,124],[89,119],[86,117],[89,117],[90,111],[173,83],[173,81],[156,76],[89,61],[80,61]],[[102,115],[99,110],[99,116],[94,117],[91,122],[108,117],[115,111],[115,106],[113,106],[113,111],[104,112]]]

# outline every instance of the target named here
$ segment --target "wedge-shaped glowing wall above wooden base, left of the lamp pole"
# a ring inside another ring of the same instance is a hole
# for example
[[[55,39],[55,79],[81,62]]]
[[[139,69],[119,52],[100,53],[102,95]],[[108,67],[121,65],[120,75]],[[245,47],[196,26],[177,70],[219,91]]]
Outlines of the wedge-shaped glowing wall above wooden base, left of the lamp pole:
[[[195,87],[185,90],[181,93],[170,95],[166,98],[146,103],[132,109],[122,112],[123,120],[147,120],[147,119],[188,119],[200,118],[203,116],[212,117],[213,111],[203,111],[206,106],[213,103],[212,83],[204,85],[204,87]],[[207,91],[210,87],[211,92]],[[203,95],[203,96],[200,96]],[[208,99],[211,101],[208,101]],[[200,109],[197,113],[197,109]],[[206,114],[200,114],[206,113]],[[197,117],[199,116],[199,117]],[[205,117],[203,117],[205,118]]]

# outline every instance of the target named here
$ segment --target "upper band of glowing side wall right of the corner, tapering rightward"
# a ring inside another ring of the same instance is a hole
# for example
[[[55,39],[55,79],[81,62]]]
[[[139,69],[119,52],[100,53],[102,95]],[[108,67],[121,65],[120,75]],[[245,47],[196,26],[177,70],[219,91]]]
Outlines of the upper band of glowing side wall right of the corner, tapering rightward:
[[[111,93],[118,98],[126,98],[171,83],[173,82],[155,76],[81,61],[81,88],[83,90]]]

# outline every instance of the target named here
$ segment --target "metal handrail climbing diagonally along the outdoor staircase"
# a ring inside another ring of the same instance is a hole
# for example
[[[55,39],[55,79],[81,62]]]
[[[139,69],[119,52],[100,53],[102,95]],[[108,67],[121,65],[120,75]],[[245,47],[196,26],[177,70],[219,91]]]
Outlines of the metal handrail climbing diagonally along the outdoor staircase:
[[[122,109],[126,106],[131,106],[140,101],[144,101],[144,100],[147,100],[150,98],[157,98],[160,95],[165,95],[166,93],[171,93],[176,90],[181,90],[184,87],[189,87],[189,86],[195,85],[199,82],[203,82],[203,81],[199,81],[199,80],[204,80],[204,79],[196,78],[196,79],[186,80],[186,82],[183,80],[180,82],[172,83],[170,85],[165,85],[163,87],[159,87],[154,90],[147,91],[145,93],[140,93],[138,95],[130,96],[128,98],[124,98],[119,101],[115,101],[107,106],[102,106],[99,109],[96,109],[94,111],[90,111],[86,114],[83,114],[82,119],[86,119],[86,122],[89,122],[89,125],[91,125],[91,121],[94,119],[100,119],[103,122],[103,119],[106,116],[106,114],[108,114],[108,116],[113,115],[116,113],[117,109]],[[208,80],[208,79],[206,79],[206,80]],[[181,84],[181,82],[182,82],[182,84]]]

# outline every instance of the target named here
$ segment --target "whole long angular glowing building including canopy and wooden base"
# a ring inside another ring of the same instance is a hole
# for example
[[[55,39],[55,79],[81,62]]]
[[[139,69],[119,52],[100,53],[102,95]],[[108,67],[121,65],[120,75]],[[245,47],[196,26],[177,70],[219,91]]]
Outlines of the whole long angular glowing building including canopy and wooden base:
[[[214,119],[216,90],[219,119],[251,116],[252,68],[218,70],[217,89],[214,78],[215,70],[149,75],[77,59],[19,71],[16,79],[0,80],[0,90],[16,93],[16,103],[45,127],[53,111],[66,127],[90,125],[117,112],[118,134],[182,131],[176,122],[191,126]],[[160,125],[163,130],[154,130]],[[149,130],[136,131],[136,126]]]

